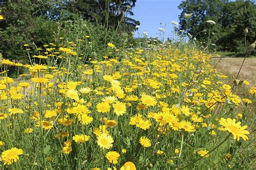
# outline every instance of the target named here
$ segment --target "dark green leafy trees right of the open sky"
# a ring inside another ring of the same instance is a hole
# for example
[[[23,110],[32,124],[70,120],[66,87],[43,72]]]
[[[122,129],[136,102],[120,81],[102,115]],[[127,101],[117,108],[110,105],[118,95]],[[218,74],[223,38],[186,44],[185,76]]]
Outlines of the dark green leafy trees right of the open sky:
[[[197,39],[207,42],[208,34],[203,32],[208,27],[207,20],[213,20],[212,43],[221,51],[244,52],[244,29],[248,27],[247,44],[255,40],[256,32],[256,5],[254,1],[228,0],[186,0],[181,2],[182,9],[180,27]],[[192,13],[191,19],[185,18],[185,13]],[[187,25],[187,21],[188,25]]]

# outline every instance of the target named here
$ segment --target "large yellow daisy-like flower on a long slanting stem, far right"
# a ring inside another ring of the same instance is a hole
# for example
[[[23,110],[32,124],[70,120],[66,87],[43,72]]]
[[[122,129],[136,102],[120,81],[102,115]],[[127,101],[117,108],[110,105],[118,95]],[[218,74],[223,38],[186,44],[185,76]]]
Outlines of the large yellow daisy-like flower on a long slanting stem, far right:
[[[244,140],[248,140],[248,137],[246,134],[250,134],[247,130],[247,126],[241,126],[241,122],[235,123],[235,119],[231,118],[220,118],[220,125],[223,125],[225,130],[232,133],[234,136],[234,139],[237,139],[239,141],[240,137]]]

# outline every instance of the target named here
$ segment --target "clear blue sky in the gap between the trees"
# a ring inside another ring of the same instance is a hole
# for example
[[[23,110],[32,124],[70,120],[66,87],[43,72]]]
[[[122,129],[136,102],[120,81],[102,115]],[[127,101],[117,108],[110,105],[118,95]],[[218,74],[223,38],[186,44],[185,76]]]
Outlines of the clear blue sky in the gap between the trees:
[[[139,20],[140,27],[134,36],[138,37],[138,32],[142,34],[146,31],[148,37],[156,37],[160,23],[163,23],[163,26],[166,24],[165,36],[167,38],[173,29],[170,22],[179,22],[181,10],[178,6],[181,2],[181,0],[137,0],[132,9],[134,13],[132,18]]]

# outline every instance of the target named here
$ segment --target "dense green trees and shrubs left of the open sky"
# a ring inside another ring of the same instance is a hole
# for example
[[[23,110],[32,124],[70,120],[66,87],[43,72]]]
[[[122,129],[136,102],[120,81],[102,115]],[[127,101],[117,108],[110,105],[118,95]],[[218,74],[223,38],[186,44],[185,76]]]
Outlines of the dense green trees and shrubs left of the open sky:
[[[131,9],[135,3],[134,0],[4,1],[0,4],[4,17],[0,20],[0,52],[4,58],[28,60],[24,44],[42,47],[59,37],[73,40],[84,33],[91,34],[92,43],[97,44],[91,53],[104,53],[106,41],[115,43],[120,40],[119,35],[121,39],[124,36],[132,39],[130,34],[139,22],[127,14],[133,15]],[[72,33],[71,28],[75,29]]]

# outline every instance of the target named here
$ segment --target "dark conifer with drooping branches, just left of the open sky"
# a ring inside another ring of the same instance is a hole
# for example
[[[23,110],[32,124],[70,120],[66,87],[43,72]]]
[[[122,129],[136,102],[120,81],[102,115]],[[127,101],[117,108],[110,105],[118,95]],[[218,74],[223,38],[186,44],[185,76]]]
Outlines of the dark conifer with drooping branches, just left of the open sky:
[[[68,9],[80,13],[83,19],[95,24],[103,24],[116,29],[119,25],[121,32],[131,32],[139,25],[137,20],[127,17],[133,16],[136,0],[77,0],[69,2]],[[123,18],[123,19],[122,19]]]

